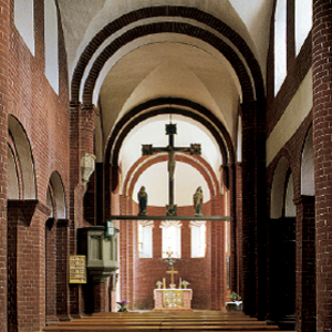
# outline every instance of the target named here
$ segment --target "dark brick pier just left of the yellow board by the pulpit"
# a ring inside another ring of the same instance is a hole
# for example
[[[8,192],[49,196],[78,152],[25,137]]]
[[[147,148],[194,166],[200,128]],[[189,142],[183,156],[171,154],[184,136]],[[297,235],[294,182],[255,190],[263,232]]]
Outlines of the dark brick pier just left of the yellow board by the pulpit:
[[[59,219],[56,222],[56,315],[60,321],[71,320],[69,292],[69,220]]]

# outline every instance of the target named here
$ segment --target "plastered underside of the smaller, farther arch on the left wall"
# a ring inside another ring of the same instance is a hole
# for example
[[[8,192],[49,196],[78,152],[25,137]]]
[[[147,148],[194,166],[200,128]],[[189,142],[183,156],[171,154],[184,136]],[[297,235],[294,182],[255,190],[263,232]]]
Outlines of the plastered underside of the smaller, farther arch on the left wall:
[[[66,207],[65,207],[65,194],[61,177],[58,172],[53,172],[50,177],[51,190],[48,190],[46,203],[52,208],[52,217],[58,219],[66,219]],[[56,216],[54,216],[54,208],[56,209]]]

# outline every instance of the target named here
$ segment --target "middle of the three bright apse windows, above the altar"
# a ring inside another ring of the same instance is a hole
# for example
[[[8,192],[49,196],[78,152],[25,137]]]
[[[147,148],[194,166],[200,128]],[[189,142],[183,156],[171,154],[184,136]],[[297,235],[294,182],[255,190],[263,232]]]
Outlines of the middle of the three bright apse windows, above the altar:
[[[162,221],[163,228],[163,258],[167,252],[172,252],[172,257],[181,257],[181,226],[180,221]]]

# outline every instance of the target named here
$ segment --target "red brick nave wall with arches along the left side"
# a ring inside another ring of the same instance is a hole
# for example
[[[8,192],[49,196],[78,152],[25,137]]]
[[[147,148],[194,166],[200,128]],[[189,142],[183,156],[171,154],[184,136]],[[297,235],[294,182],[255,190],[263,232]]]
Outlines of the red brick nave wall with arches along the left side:
[[[54,278],[48,278],[48,292],[45,290],[46,257],[44,224],[48,217],[44,215],[44,211],[40,209],[40,207],[45,205],[49,179],[53,172],[60,174],[65,190],[64,196],[70,197],[68,71],[65,66],[64,39],[61,25],[59,24],[59,56],[62,65],[59,71],[60,92],[58,95],[44,75],[43,0],[34,1],[34,56],[32,56],[14,27],[13,6],[14,1],[1,1],[0,4],[0,27],[7,27],[8,29],[8,33],[0,33],[0,43],[7,39],[6,46],[1,45],[1,50],[8,50],[8,58],[6,60],[0,59],[1,73],[8,71],[6,76],[8,77],[8,84],[11,86],[7,95],[8,105],[6,105],[6,112],[15,116],[18,122],[21,123],[31,145],[35,173],[35,184],[33,185],[35,185],[35,198],[39,204],[29,225],[21,225],[20,218],[11,218],[12,226],[10,228],[11,234],[9,234],[9,240],[12,240],[14,236],[17,242],[13,241],[10,245],[13,253],[10,256],[9,264],[17,264],[20,273],[15,273],[15,276],[14,272],[9,274],[9,282],[17,290],[17,294],[14,295],[12,293],[13,298],[12,300],[10,299],[10,301],[17,302],[17,307],[13,309],[12,302],[10,302],[11,313],[9,315],[9,326],[13,329],[11,331],[14,331],[15,328],[13,326],[17,326],[19,331],[41,331],[45,324],[46,308],[48,315],[50,310],[52,313],[55,310]],[[4,53],[1,52],[0,56],[3,55]],[[2,86],[6,87],[1,76],[0,80],[0,89],[2,89]],[[2,91],[0,95],[4,95]],[[0,100],[1,112],[4,111],[2,107]],[[8,128],[4,121],[1,121],[1,123],[4,125],[4,133],[1,135],[4,139]],[[7,151],[7,144],[2,146],[4,146]],[[7,152],[3,156],[7,156]],[[4,172],[4,166],[1,167],[1,172]],[[1,179],[1,183],[4,180],[4,178]],[[6,191],[1,190],[1,193]],[[6,207],[6,205],[3,205],[3,207]],[[18,225],[14,226],[15,230],[13,230],[13,220],[18,222]],[[2,225],[6,224],[0,222],[0,225],[2,227]],[[3,238],[7,238],[6,234],[3,234]],[[55,245],[55,237],[53,235],[52,240],[50,237],[49,240],[50,246]],[[13,248],[13,246],[15,246],[15,248]],[[50,247],[48,249],[50,249]],[[54,250],[48,250],[49,255],[51,255],[51,251],[53,252]],[[6,257],[6,255],[1,255],[1,257]],[[52,257],[54,257],[54,253],[52,253]],[[55,266],[54,262],[50,263],[50,259],[51,257],[48,256],[48,267],[51,273],[52,271],[54,272]],[[60,262],[58,262],[58,269]],[[59,289],[63,282],[66,283],[68,280],[62,279],[60,281],[58,278],[56,286]],[[50,283],[52,283],[52,286],[50,286]],[[7,303],[7,299],[2,303]],[[7,318],[0,319],[0,330],[7,331],[4,326]]]

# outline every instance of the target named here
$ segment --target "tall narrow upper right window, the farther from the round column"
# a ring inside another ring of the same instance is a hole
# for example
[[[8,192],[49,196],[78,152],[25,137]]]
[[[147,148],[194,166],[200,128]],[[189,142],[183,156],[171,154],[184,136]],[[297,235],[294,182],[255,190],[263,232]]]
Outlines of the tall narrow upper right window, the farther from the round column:
[[[287,0],[278,0],[274,15],[274,95],[287,75]]]

